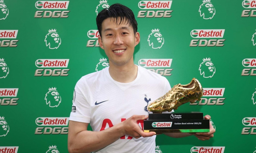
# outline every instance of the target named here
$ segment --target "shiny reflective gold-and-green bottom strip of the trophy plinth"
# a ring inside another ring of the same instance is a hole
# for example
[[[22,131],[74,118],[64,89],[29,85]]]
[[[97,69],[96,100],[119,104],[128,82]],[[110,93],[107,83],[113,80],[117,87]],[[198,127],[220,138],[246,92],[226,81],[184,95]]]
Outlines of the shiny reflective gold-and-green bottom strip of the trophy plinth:
[[[155,133],[197,133],[197,132],[210,132],[210,129],[166,129],[166,130],[144,130],[144,132],[155,132]]]

